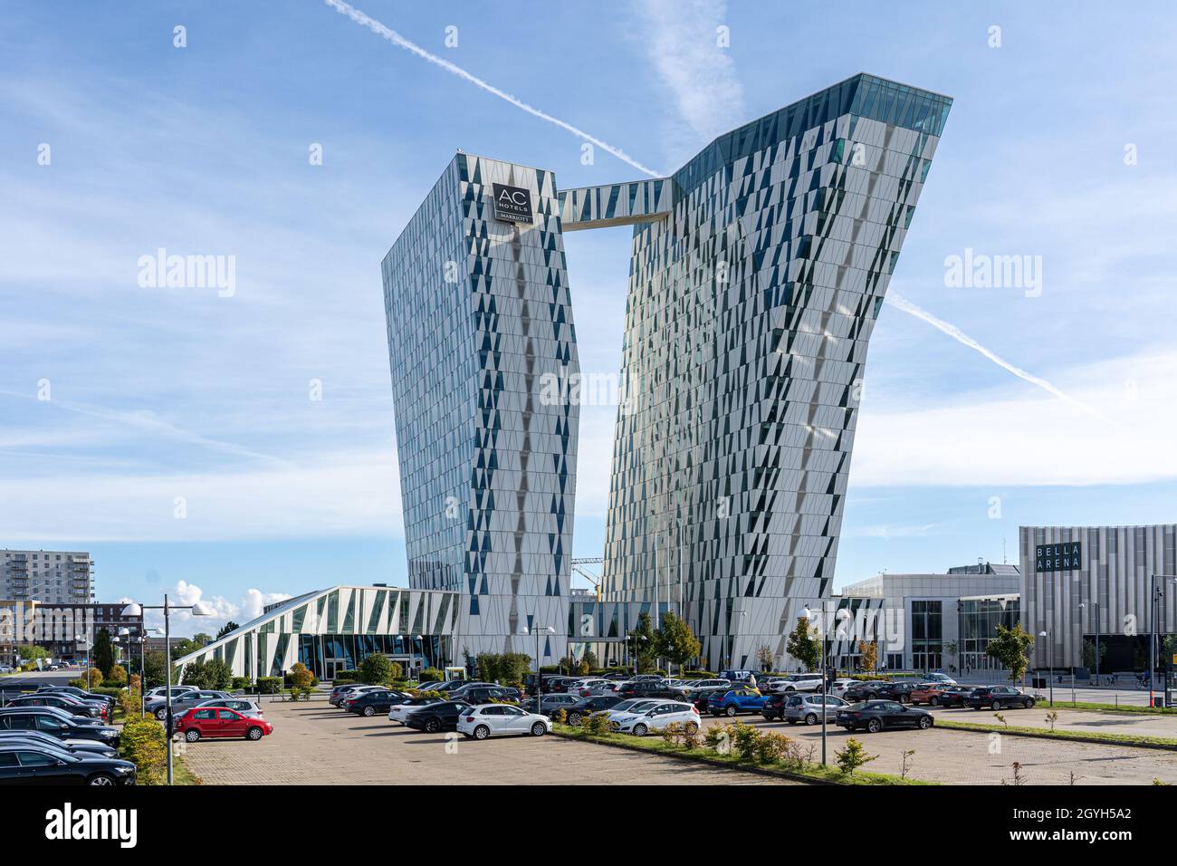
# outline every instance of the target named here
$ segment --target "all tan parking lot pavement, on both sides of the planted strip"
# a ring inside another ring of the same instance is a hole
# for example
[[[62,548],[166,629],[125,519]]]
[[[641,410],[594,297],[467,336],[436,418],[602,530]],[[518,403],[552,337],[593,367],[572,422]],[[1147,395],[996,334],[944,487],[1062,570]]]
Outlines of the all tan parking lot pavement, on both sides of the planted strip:
[[[390,722],[383,715],[360,718],[326,701],[267,702],[266,719],[275,731],[260,742],[245,740],[179,743],[188,766],[210,785],[390,785],[407,784],[572,784],[572,785],[772,785],[789,784],[738,771],[691,765],[672,758],[565,740],[499,738],[474,742],[455,734],[425,734]],[[1010,710],[1011,725],[1033,723],[1038,708]],[[1069,712],[1060,710],[1059,726]],[[1080,714],[1075,714],[1080,715]],[[1098,716],[1100,714],[1082,714]],[[938,718],[993,721],[992,713],[937,710]],[[820,755],[820,727],[743,721],[782,731]],[[1122,725],[1122,716],[1103,721]],[[722,723],[706,719],[705,725]],[[1100,721],[1096,719],[1093,721]],[[1129,720],[1131,721],[1131,720]],[[1156,719],[1138,723],[1165,725]],[[1099,729],[1099,728],[1096,728]],[[1118,728],[1117,728],[1118,729]],[[1126,733],[1126,732],[1125,732]],[[829,758],[850,736],[830,726]],[[1013,763],[1028,785],[1146,785],[1153,778],[1177,784],[1177,752],[1128,746],[1071,743],[984,733],[891,731],[859,733],[867,753],[878,755],[866,769],[898,774],[903,752],[910,775],[947,785],[1000,785],[1013,781]],[[1073,779],[1072,779],[1073,774]]]

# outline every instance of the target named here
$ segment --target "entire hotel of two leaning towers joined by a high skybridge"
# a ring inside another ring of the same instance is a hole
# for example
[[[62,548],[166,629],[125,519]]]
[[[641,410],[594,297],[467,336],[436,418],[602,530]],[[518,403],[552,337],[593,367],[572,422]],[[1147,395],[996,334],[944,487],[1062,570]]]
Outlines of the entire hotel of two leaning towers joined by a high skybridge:
[[[950,106],[859,74],[669,178],[566,191],[454,158],[383,272],[410,584],[463,593],[455,646],[533,654],[538,624],[544,661],[566,640],[617,657],[657,603],[707,666],[791,663],[797,615],[830,596],[867,341]],[[603,600],[570,610],[561,232],[626,224]]]

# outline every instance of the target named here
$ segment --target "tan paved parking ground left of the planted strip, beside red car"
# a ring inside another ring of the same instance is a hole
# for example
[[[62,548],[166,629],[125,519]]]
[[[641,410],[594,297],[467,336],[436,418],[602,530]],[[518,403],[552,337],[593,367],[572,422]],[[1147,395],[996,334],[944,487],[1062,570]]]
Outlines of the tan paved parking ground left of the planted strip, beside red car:
[[[326,701],[265,703],[274,733],[259,742],[177,743],[207,785],[791,785],[673,758],[556,736],[424,734]]]

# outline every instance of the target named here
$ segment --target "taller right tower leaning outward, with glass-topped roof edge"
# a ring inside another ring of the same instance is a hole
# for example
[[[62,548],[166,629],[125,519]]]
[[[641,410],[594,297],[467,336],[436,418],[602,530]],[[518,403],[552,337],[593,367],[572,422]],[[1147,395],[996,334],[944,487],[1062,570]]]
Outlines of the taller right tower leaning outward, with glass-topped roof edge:
[[[790,663],[830,595],[867,341],[950,105],[856,75],[716,139],[633,231],[603,588],[680,610],[713,669]]]

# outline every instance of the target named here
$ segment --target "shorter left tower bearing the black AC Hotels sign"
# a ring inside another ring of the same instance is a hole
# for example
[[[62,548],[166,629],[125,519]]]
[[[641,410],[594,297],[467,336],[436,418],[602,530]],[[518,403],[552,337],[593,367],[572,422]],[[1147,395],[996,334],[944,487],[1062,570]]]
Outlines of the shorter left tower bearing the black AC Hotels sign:
[[[461,593],[463,661],[534,655],[537,626],[560,657],[579,411],[551,395],[579,366],[552,173],[459,153],[381,275],[410,587]]]

